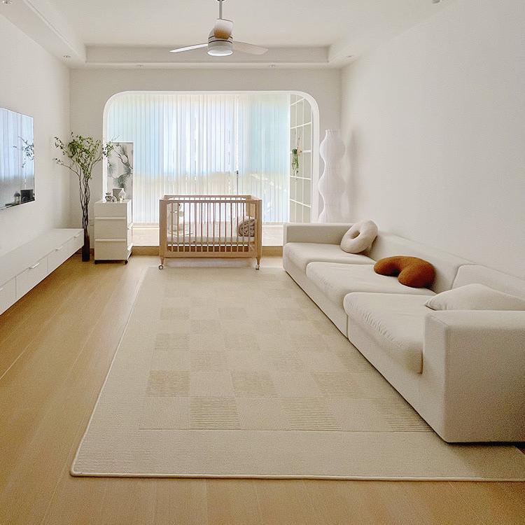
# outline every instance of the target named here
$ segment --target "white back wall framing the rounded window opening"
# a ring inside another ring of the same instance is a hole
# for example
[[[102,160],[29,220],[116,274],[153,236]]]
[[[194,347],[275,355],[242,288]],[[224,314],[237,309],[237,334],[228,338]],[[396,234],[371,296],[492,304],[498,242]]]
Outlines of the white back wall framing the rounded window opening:
[[[71,130],[102,137],[104,106],[123,91],[297,90],[316,99],[324,135],[325,128],[339,127],[340,88],[337,69],[78,69],[71,71]],[[94,174],[91,195],[92,202],[102,198],[101,166]],[[78,225],[73,187],[71,206],[72,225]]]

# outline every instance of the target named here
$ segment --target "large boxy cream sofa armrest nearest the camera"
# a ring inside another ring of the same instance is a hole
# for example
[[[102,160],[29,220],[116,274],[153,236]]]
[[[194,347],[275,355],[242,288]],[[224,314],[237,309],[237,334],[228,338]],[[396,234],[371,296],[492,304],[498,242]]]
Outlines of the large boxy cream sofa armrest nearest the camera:
[[[423,374],[444,440],[525,440],[525,311],[427,314]]]

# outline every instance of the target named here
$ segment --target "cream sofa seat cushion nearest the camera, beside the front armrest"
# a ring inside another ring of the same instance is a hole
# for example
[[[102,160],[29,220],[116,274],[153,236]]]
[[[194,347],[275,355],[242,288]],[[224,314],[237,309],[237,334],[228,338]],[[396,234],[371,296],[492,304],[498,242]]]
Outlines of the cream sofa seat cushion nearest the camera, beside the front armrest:
[[[349,293],[344,311],[352,324],[363,328],[382,351],[408,370],[423,372],[423,339],[428,297],[394,293]]]

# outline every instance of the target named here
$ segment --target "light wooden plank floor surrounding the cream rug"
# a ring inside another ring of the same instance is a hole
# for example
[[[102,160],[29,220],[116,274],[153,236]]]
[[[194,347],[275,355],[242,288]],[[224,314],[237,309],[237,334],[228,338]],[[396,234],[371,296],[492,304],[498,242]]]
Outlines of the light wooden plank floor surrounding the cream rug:
[[[154,265],[71,258],[0,316],[0,524],[525,523],[525,483],[70,477],[141,274]]]

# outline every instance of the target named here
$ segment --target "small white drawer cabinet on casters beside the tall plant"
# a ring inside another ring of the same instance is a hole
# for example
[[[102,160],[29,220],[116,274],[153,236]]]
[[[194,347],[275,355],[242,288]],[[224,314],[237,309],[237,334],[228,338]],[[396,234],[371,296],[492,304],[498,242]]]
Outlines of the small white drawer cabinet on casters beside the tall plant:
[[[130,258],[132,239],[131,200],[94,203],[94,262]]]

